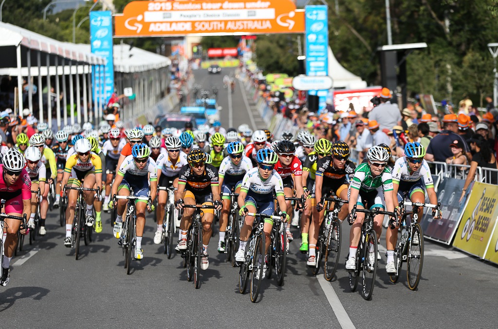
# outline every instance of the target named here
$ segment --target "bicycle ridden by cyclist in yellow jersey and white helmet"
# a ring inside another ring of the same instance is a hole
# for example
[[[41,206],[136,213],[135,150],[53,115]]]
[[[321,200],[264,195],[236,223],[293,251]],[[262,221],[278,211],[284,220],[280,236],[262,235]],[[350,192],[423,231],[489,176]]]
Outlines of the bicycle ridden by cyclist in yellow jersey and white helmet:
[[[74,209],[74,219],[73,219],[73,227],[71,229],[71,247],[75,248],[75,258],[78,260],[80,254],[80,240],[83,236],[83,241],[85,246],[92,241],[92,232],[94,230],[93,227],[89,227],[86,223],[86,209],[87,203],[84,198],[84,191],[93,191],[97,192],[97,198],[100,197],[100,187],[99,188],[86,188],[86,187],[73,187],[73,186],[64,186],[64,193],[66,195],[67,190],[76,190],[78,191],[76,208]]]

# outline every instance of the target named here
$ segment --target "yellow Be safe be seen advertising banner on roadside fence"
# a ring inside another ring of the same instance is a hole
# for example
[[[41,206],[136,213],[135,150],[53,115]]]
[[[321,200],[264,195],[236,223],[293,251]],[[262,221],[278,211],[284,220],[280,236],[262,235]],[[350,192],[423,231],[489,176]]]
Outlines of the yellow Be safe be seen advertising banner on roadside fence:
[[[497,198],[497,185],[474,183],[453,247],[484,257],[498,217]]]

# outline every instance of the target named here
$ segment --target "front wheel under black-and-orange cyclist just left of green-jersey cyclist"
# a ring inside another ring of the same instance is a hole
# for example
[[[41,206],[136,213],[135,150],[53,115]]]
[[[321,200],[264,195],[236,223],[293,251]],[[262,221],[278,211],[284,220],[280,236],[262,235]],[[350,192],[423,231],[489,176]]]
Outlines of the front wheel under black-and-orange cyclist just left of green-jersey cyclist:
[[[339,219],[335,219],[330,224],[329,232],[325,240],[325,263],[323,271],[325,280],[332,281],[339,265],[339,256],[341,255],[342,229]]]

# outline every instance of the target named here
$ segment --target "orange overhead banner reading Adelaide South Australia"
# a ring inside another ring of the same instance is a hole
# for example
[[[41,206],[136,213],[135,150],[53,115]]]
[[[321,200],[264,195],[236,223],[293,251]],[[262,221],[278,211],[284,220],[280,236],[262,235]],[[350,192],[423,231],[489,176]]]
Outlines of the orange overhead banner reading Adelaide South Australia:
[[[291,0],[132,1],[115,16],[116,38],[304,33]]]

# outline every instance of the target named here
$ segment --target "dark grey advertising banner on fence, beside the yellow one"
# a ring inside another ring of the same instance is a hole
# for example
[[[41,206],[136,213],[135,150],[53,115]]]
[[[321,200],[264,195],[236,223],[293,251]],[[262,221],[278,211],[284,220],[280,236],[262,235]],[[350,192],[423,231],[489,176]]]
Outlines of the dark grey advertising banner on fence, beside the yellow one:
[[[438,187],[438,202],[441,203],[442,219],[432,218],[432,211],[422,217],[420,225],[424,236],[449,245],[457,230],[465,206],[465,198],[458,202],[465,180],[445,178]]]

